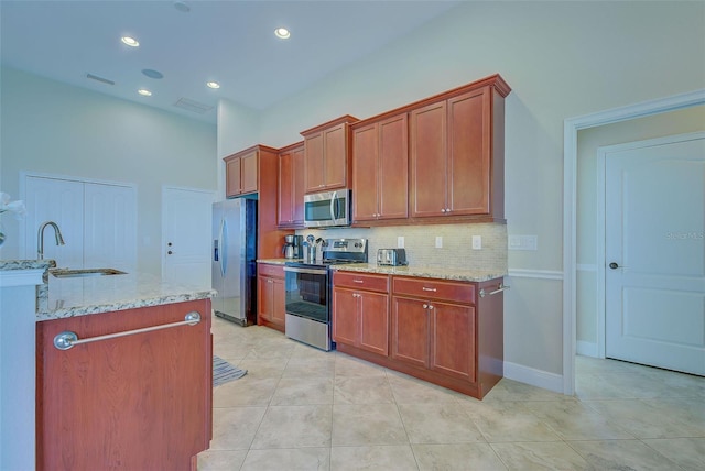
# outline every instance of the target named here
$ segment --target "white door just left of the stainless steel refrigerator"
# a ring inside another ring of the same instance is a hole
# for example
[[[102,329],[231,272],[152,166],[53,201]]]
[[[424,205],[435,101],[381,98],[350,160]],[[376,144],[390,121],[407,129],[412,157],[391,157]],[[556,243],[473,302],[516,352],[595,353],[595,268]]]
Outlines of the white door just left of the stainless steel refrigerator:
[[[162,190],[162,280],[210,289],[210,220],[215,194]]]

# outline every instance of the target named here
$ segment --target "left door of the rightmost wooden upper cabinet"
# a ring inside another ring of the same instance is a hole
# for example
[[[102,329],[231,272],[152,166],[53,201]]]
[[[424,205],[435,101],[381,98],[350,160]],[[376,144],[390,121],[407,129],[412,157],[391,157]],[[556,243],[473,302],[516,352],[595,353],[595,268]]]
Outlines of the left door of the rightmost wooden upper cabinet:
[[[411,111],[411,216],[446,212],[446,102]]]

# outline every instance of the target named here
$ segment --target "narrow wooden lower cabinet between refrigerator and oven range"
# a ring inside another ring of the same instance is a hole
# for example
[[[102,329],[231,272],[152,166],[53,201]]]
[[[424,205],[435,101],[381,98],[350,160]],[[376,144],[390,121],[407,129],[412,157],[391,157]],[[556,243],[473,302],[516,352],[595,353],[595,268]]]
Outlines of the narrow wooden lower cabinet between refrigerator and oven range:
[[[257,277],[257,324],[284,331],[286,291],[284,267],[259,264]]]

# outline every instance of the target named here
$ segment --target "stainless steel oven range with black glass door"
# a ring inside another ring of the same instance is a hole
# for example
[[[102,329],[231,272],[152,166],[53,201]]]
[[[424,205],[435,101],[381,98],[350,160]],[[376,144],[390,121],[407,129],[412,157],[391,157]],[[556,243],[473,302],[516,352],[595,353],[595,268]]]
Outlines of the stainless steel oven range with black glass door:
[[[330,272],[344,263],[367,263],[367,239],[326,239],[323,260],[286,262],[286,337],[328,351],[330,340]]]

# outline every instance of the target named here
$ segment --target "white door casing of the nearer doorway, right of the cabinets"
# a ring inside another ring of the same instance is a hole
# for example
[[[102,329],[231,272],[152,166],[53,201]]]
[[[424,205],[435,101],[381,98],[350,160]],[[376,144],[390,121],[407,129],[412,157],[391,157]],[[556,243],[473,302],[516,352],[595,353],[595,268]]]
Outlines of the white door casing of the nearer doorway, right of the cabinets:
[[[705,105],[705,89],[567,118],[563,121],[563,394],[575,394],[577,132],[699,105]]]

